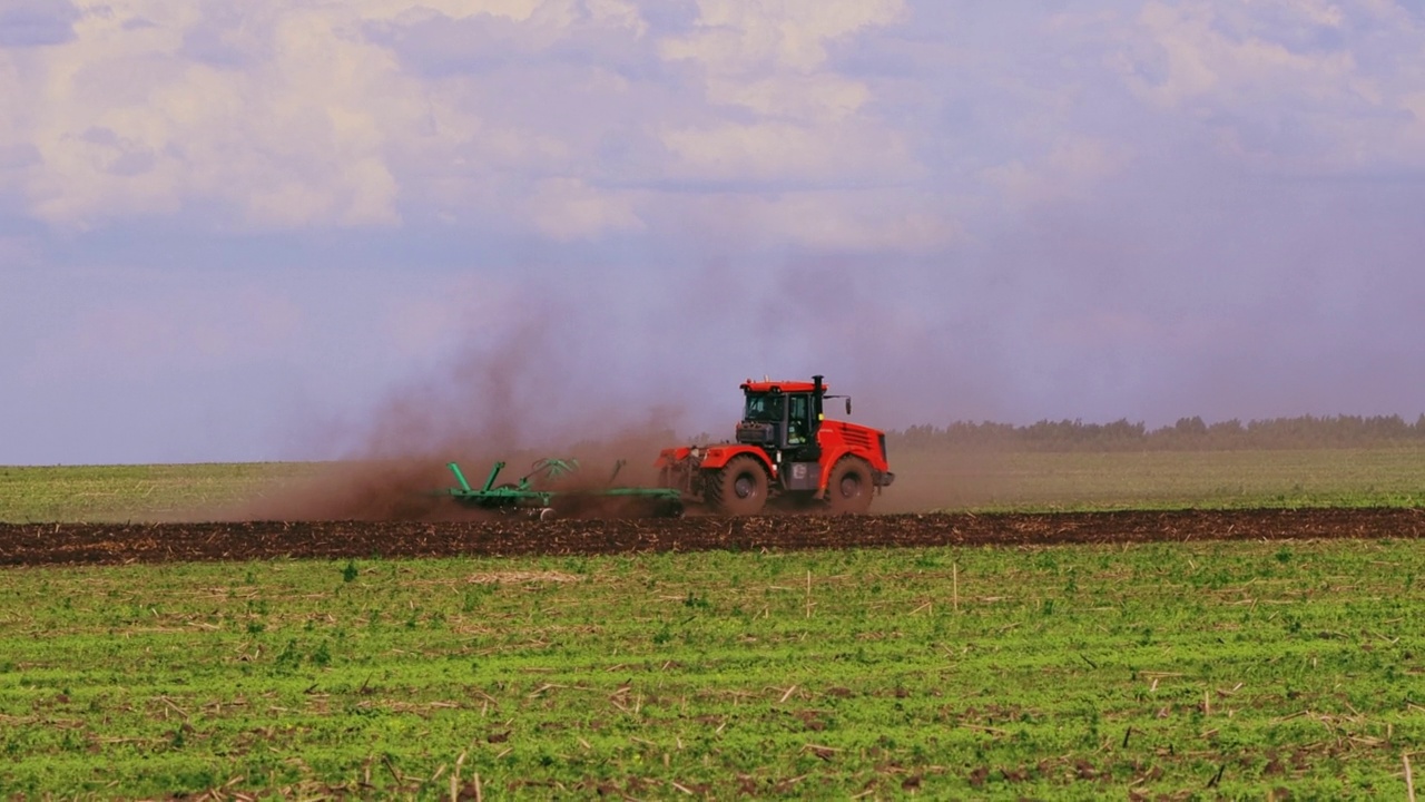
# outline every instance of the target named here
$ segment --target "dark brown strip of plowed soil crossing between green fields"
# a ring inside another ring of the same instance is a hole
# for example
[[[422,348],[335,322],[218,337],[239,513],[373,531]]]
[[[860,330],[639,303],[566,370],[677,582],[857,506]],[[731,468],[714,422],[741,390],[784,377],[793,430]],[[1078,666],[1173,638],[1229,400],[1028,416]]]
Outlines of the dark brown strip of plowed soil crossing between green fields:
[[[613,521],[0,524],[0,565],[640,551],[1419,538],[1425,509],[948,514]]]

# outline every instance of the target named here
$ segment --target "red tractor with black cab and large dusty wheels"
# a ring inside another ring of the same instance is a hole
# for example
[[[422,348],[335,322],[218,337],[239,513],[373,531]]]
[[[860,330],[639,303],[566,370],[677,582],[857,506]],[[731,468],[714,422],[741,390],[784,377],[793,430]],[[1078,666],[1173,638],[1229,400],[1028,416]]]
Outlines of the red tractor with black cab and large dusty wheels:
[[[822,402],[844,397],[826,395],[821,378],[747,380],[737,442],[663,450],[661,484],[724,515],[755,515],[772,499],[802,509],[865,512],[876,488],[895,479],[886,435],[825,420]]]

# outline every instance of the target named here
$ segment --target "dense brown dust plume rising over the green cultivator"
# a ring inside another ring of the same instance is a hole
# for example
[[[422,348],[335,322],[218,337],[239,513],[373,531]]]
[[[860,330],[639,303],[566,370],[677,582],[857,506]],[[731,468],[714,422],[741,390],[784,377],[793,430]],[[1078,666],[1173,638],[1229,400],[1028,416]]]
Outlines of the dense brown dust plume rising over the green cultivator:
[[[580,491],[614,484],[656,484],[654,460],[675,445],[675,407],[616,404],[580,387],[597,355],[550,321],[557,308],[533,305],[526,318],[496,338],[472,341],[453,362],[393,391],[358,424],[358,445],[309,479],[262,488],[248,501],[217,511],[215,519],[264,521],[447,521],[494,515],[437,492],[456,487],[447,462],[480,485],[496,462],[496,484],[527,479],[569,499],[561,514],[617,512]],[[647,394],[644,394],[647,395]],[[328,431],[328,437],[352,437]],[[573,461],[573,474],[550,477],[544,458]]]

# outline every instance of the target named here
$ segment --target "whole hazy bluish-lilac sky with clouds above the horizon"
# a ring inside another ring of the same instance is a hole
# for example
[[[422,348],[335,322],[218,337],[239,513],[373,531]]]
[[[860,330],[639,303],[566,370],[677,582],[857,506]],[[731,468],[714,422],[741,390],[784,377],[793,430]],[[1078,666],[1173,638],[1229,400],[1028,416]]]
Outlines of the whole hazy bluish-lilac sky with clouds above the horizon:
[[[0,464],[1414,421],[1422,310],[1418,0],[0,0]]]

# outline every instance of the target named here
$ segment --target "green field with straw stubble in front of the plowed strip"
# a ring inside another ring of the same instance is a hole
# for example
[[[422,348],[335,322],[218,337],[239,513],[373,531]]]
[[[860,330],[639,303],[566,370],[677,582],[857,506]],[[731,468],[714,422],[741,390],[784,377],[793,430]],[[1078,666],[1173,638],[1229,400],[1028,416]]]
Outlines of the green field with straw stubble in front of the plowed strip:
[[[14,569],[0,793],[1401,798],[1422,575],[1399,539]]]

